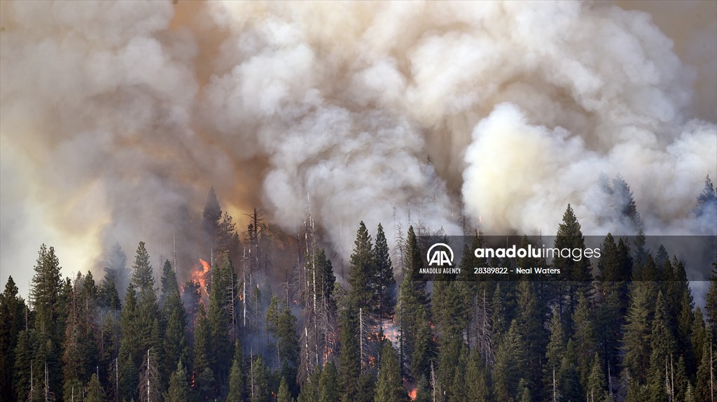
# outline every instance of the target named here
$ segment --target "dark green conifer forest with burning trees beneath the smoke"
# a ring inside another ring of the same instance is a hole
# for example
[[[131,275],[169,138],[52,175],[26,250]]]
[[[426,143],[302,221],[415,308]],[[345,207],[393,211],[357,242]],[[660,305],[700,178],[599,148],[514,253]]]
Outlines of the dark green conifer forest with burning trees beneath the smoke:
[[[715,209],[708,177],[693,214]],[[617,210],[639,225],[632,197]],[[12,278],[0,295],[1,401],[714,400],[717,257],[702,309],[674,253],[612,234],[597,267],[552,261],[574,280],[425,283],[407,274],[426,263],[421,222],[391,245],[361,222],[341,278],[310,213],[295,238],[246,217],[237,230],[210,190],[209,255],[186,281],[176,252],[156,270],[144,242],[129,260],[115,245],[103,278],[62,278],[40,246],[29,298]],[[465,228],[473,246],[479,229]],[[582,241],[568,205],[556,245]],[[293,250],[278,275],[272,243]]]

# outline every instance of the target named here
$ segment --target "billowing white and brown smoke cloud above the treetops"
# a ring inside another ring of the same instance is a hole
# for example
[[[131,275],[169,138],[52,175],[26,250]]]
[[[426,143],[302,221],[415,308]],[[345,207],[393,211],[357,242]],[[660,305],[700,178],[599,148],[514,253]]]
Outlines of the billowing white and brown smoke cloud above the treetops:
[[[169,255],[210,185],[288,231],[310,200],[344,253],[394,209],[535,233],[570,202],[603,234],[601,172],[648,229],[692,230],[717,177],[705,4],[658,27],[563,1],[4,1],[0,278],[22,288],[40,242],[67,270],[115,240]]]

